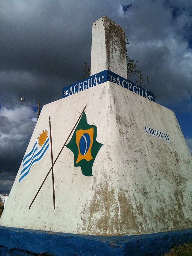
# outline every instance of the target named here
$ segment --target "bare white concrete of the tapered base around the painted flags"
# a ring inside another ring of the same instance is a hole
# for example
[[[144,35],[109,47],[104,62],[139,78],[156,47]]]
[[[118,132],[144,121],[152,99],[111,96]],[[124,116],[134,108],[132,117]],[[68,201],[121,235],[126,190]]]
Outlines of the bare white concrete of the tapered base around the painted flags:
[[[43,107],[28,149],[51,117],[53,159],[81,111],[103,143],[93,176],[74,167],[64,147],[54,166],[50,151],[19,186],[19,168],[0,225],[92,235],[134,235],[192,227],[192,158],[174,113],[114,83],[106,82]],[[146,133],[163,131],[169,140]],[[22,199],[22,200],[21,200]]]

